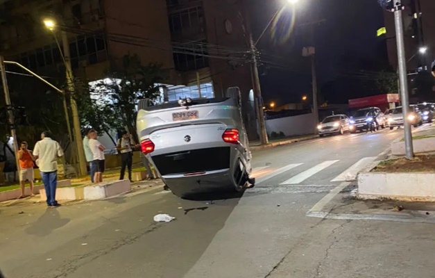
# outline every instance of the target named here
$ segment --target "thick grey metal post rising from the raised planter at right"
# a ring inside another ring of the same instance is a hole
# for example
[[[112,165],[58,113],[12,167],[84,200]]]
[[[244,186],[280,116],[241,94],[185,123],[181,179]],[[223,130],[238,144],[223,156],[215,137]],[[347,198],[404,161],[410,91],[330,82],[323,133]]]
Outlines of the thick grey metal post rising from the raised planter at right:
[[[396,0],[394,11],[395,21],[395,38],[398,44],[398,67],[400,79],[400,97],[402,98],[402,113],[404,127],[404,145],[407,158],[413,158],[413,145],[411,124],[408,122],[409,115],[409,100],[408,100],[408,80],[407,80],[407,60],[404,53],[404,38],[403,38],[403,19],[402,19],[402,3],[401,0]]]

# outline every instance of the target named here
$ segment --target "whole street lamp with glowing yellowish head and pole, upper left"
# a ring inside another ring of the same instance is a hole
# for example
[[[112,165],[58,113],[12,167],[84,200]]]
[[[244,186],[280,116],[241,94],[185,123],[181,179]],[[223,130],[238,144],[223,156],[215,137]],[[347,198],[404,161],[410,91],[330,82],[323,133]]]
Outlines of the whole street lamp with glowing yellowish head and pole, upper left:
[[[58,24],[54,19],[50,19],[50,18],[44,19],[43,22],[44,22],[44,26],[46,26],[46,28],[53,33],[56,43],[58,44],[60,56],[62,56],[63,63],[65,64],[65,74],[67,76],[68,92],[71,95],[74,95],[75,92],[74,76],[71,69],[71,58],[69,53],[69,42],[68,42],[67,32],[63,30],[60,31],[60,34],[62,35],[62,44],[63,44],[63,51],[62,51],[62,49],[60,48],[58,38],[54,33],[54,30],[56,29],[56,26]],[[86,167],[85,151],[83,150],[82,133],[80,129],[80,117],[78,117],[78,108],[77,108],[76,99],[74,99],[74,97],[70,97],[69,99],[70,99],[71,111],[73,117],[73,128],[74,128],[74,137],[75,137],[74,139],[76,142],[76,152],[77,152],[77,159],[78,159],[78,166],[79,166],[78,172],[82,175],[85,175],[87,173],[87,167]],[[66,101],[65,101],[65,106],[66,106]],[[71,136],[69,139],[71,141],[73,140]]]

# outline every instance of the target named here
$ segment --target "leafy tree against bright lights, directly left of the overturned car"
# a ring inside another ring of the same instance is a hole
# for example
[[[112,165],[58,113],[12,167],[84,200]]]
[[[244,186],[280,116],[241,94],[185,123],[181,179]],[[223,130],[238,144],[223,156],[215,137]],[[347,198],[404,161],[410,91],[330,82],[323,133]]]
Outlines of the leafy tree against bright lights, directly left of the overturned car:
[[[91,88],[91,95],[99,109],[108,109],[118,120],[106,122],[111,129],[126,126],[138,140],[136,131],[137,102],[139,99],[156,99],[160,96],[159,85],[164,80],[160,65],[142,65],[137,55],[122,58],[118,70],[108,72],[108,78]],[[108,120],[108,119],[106,119]],[[113,119],[112,119],[113,120]]]

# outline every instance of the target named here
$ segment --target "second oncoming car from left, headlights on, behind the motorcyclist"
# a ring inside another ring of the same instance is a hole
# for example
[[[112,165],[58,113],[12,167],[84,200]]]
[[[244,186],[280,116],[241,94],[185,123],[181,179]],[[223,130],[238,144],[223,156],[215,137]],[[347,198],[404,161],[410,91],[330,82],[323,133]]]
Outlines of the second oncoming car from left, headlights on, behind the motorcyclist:
[[[381,109],[377,107],[369,107],[369,108],[363,108],[359,109],[357,111],[354,111],[352,113],[352,116],[350,117],[350,124],[355,126],[355,129],[352,130],[352,132],[362,131],[362,130],[368,130],[368,118],[372,117],[372,115],[375,115],[375,118],[373,118],[373,124],[375,124],[375,129],[379,129],[379,127],[384,128],[386,126],[384,113],[382,113]]]

